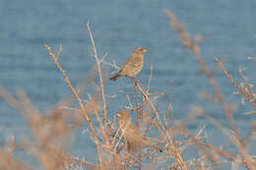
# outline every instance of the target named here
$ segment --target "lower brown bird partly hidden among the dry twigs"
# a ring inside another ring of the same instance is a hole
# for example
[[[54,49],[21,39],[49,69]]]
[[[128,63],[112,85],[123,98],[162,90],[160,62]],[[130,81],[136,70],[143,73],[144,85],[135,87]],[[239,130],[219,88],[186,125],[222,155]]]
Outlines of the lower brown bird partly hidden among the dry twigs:
[[[154,142],[147,140],[140,132],[137,126],[134,126],[130,115],[121,110],[117,113],[118,130],[127,144],[128,152],[141,150],[143,147],[153,147],[160,152],[162,151]]]

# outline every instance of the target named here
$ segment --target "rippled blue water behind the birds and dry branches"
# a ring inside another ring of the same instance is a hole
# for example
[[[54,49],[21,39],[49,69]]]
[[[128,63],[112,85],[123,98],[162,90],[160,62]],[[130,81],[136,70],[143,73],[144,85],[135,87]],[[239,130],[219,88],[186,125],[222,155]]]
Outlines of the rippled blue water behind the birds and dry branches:
[[[214,56],[225,60],[225,66],[236,81],[237,68],[243,67],[246,76],[255,84],[255,61],[247,56],[256,54],[256,1],[175,1],[175,0],[130,0],[130,1],[0,1],[0,86],[12,93],[23,88],[41,112],[47,111],[62,97],[70,93],[60,73],[50,61],[43,44],[52,48],[63,44],[61,63],[77,85],[89,72],[95,62],[90,53],[90,37],[87,22],[91,22],[99,56],[108,54],[106,61],[122,65],[132,50],[138,46],[149,48],[145,56],[144,70],[138,76],[146,85],[150,68],[154,68],[152,91],[167,93],[172,86],[171,101],[175,119],[181,119],[195,105],[203,105],[206,112],[226,125],[224,113],[219,104],[207,102],[198,96],[202,89],[212,92],[207,79],[198,76],[198,64],[193,54],[185,48],[178,33],[169,28],[169,21],[163,9],[171,10],[191,37],[202,35],[200,43],[202,57],[211,70],[217,66]],[[113,69],[111,69],[113,71]],[[217,80],[228,104],[237,103],[234,113],[240,132],[249,128],[253,116],[250,105],[242,106],[239,97],[231,93],[235,88],[224,78]],[[130,80],[120,79],[118,85],[124,89]],[[107,82],[106,93],[111,94],[116,84]],[[120,99],[123,96],[123,100]],[[165,108],[167,95],[159,98],[160,108]],[[118,105],[127,104],[125,95],[113,99],[108,110],[111,119]],[[0,101],[1,133],[21,135],[26,133],[26,122],[16,111]],[[219,132],[212,130],[204,119],[195,121],[194,129],[209,126],[213,143],[218,141]],[[211,131],[212,130],[212,131]],[[94,148],[88,150],[83,136],[75,143],[72,154],[92,156]],[[216,141],[215,141],[216,139]],[[92,143],[93,146],[93,143]],[[255,153],[255,148],[252,149]],[[193,153],[192,153],[193,154]],[[93,156],[94,157],[94,156]]]

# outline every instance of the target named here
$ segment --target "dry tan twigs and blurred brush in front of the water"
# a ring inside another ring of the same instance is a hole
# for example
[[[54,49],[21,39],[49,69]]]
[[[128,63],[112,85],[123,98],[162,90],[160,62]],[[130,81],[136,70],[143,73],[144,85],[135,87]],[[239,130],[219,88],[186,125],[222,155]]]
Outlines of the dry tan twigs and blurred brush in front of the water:
[[[39,113],[23,90],[19,90],[16,95],[12,95],[3,87],[0,88],[0,97],[27,119],[32,130],[31,141],[15,141],[13,137],[10,142],[6,142],[1,147],[0,169],[33,169],[26,165],[26,162],[21,162],[13,156],[13,153],[19,149],[25,149],[29,152],[45,170],[159,168],[210,170],[222,169],[223,165],[228,165],[229,167],[239,165],[248,170],[256,169],[255,156],[248,153],[249,142],[252,142],[256,124],[251,123],[251,129],[248,131],[246,138],[242,139],[232,117],[232,111],[224,101],[224,96],[220,91],[214,74],[210,72],[202,59],[198,45],[199,36],[191,40],[188,32],[179,24],[175,16],[168,10],[165,10],[165,13],[171,23],[171,27],[178,30],[182,43],[194,54],[200,69],[214,89],[214,94],[208,95],[204,92],[204,96],[211,98],[212,102],[218,101],[220,103],[229,127],[222,126],[217,120],[207,115],[200,106],[192,108],[189,117],[184,118],[184,120],[174,120],[173,114],[175,113],[172,113],[170,97],[166,103],[167,110],[158,110],[156,107],[157,101],[153,96],[161,95],[162,93],[150,92],[152,71],[147,87],[144,87],[139,80],[133,79],[134,93],[126,93],[127,100],[130,103],[126,110],[136,112],[136,126],[144,128],[142,134],[145,135],[145,138],[150,131],[158,133],[158,138],[147,138],[147,140],[155,143],[163,151],[159,152],[154,147],[148,147],[137,150],[139,154],[128,152],[127,143],[122,138],[123,134],[117,128],[114,118],[109,119],[107,104],[110,102],[111,97],[107,98],[104,91],[104,84],[106,82],[103,81],[105,79],[103,79],[102,64],[114,68],[118,67],[98,58],[93,32],[88,23],[87,27],[92,41],[96,67],[92,69],[86,81],[78,85],[78,87],[72,85],[68,75],[58,62],[62,46],[60,46],[55,55],[50,47],[45,45],[53,63],[72,92],[72,95],[64,98],[48,113]],[[237,88],[238,91],[236,93],[241,94],[242,98],[251,103],[253,109],[251,114],[255,114],[256,95],[253,91],[253,85],[248,83],[241,70],[239,74],[243,83],[238,85],[232,80],[231,76],[224,69],[224,64],[217,57],[216,61],[223,70],[224,76],[230,81],[230,85],[234,85]],[[98,85],[93,82],[96,77],[99,80]],[[85,92],[86,87],[94,84],[96,86],[95,92],[89,94],[88,98],[81,98],[81,93]],[[118,93],[116,96],[118,97]],[[130,98],[133,98],[134,102]],[[78,103],[79,107],[72,108],[70,105],[73,102]],[[204,136],[204,128],[198,130],[196,134],[191,134],[186,127],[187,122],[195,120],[198,116],[203,116],[215,125],[224,134],[228,142],[235,146],[236,151],[230,152],[228,149],[222,148],[221,145],[218,147],[212,145],[211,139],[208,139],[206,135]],[[73,132],[81,127],[83,122],[86,122],[89,127],[86,137],[92,140],[96,146],[95,162],[89,162],[87,158],[70,157],[65,151],[65,148],[72,142]],[[196,148],[199,156],[189,158],[186,156],[184,158],[183,152],[188,148]]]

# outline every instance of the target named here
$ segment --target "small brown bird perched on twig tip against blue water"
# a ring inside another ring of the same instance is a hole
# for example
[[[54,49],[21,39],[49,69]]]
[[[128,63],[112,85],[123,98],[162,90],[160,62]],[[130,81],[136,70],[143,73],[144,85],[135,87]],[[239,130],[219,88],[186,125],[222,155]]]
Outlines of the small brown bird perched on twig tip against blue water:
[[[125,62],[123,67],[119,70],[119,73],[110,78],[110,80],[116,81],[121,76],[134,78],[136,75],[138,75],[142,70],[144,54],[147,51],[148,50],[144,47],[137,47]]]

